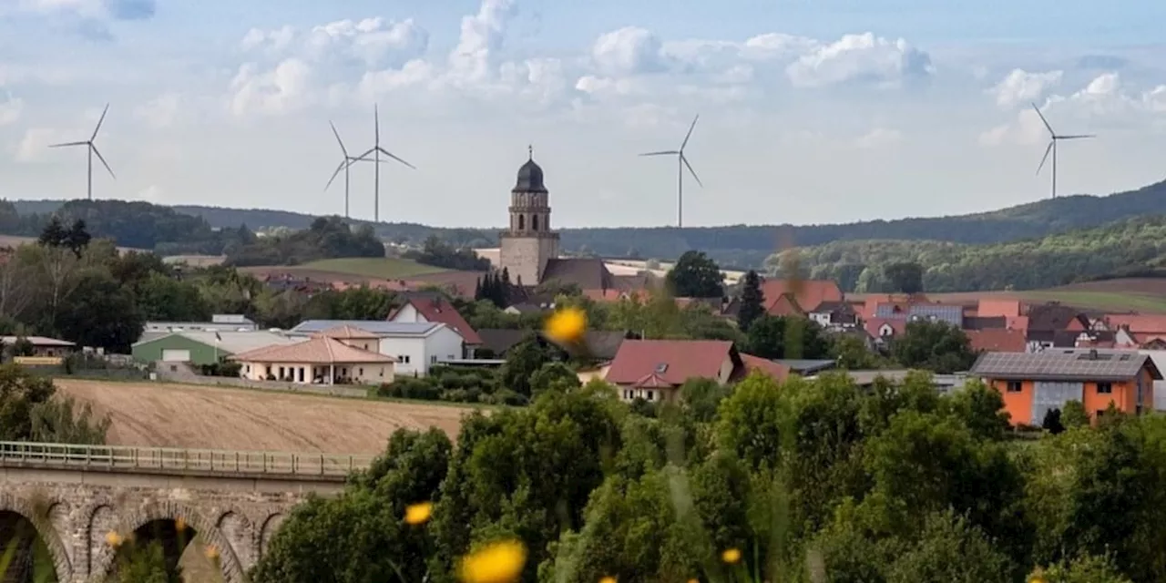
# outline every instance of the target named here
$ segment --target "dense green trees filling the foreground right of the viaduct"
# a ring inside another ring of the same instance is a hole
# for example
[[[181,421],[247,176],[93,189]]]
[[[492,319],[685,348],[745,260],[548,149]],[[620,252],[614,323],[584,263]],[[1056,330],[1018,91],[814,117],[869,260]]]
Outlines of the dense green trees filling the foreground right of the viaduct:
[[[1018,441],[995,389],[940,395],[925,373],[681,392],[649,417],[602,381],[552,384],[456,444],[399,430],[342,496],[293,511],[253,580],[452,582],[498,540],[521,541],[532,583],[1166,577],[1166,417]],[[431,515],[407,524],[419,503]]]

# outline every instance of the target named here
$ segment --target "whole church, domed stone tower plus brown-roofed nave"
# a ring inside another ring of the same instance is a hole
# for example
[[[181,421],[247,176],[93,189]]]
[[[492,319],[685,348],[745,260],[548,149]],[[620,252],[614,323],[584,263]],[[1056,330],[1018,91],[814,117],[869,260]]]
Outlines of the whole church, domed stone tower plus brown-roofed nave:
[[[557,281],[602,296],[607,295],[607,290],[642,288],[642,282],[638,281],[642,278],[614,276],[602,259],[560,258],[559,233],[550,227],[549,195],[542,168],[529,150],[511,189],[510,227],[499,233],[501,248],[496,267],[505,268],[512,283],[526,288]]]

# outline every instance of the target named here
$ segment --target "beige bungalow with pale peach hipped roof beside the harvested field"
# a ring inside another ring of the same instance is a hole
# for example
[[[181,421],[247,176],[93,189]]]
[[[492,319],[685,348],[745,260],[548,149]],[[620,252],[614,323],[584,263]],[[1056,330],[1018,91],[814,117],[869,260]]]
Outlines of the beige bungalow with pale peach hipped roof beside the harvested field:
[[[361,350],[328,336],[266,346],[231,357],[240,377],[302,385],[379,385],[393,381],[393,357]]]

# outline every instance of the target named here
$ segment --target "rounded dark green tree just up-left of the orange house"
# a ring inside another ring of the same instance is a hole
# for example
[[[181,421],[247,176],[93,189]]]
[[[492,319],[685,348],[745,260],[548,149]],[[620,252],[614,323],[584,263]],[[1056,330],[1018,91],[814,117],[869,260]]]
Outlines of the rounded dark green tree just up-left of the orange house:
[[[909,368],[949,374],[967,371],[976,361],[971,340],[947,322],[908,322],[902,336],[891,343],[891,357]]]

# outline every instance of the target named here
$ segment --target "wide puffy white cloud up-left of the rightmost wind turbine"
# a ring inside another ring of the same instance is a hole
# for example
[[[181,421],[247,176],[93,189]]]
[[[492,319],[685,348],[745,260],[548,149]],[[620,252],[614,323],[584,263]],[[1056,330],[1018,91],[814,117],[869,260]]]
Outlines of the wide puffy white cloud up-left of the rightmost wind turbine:
[[[930,73],[932,61],[927,52],[908,45],[902,38],[890,41],[873,33],[845,35],[802,55],[786,68],[789,82],[798,87],[856,80],[898,85],[905,79]]]

